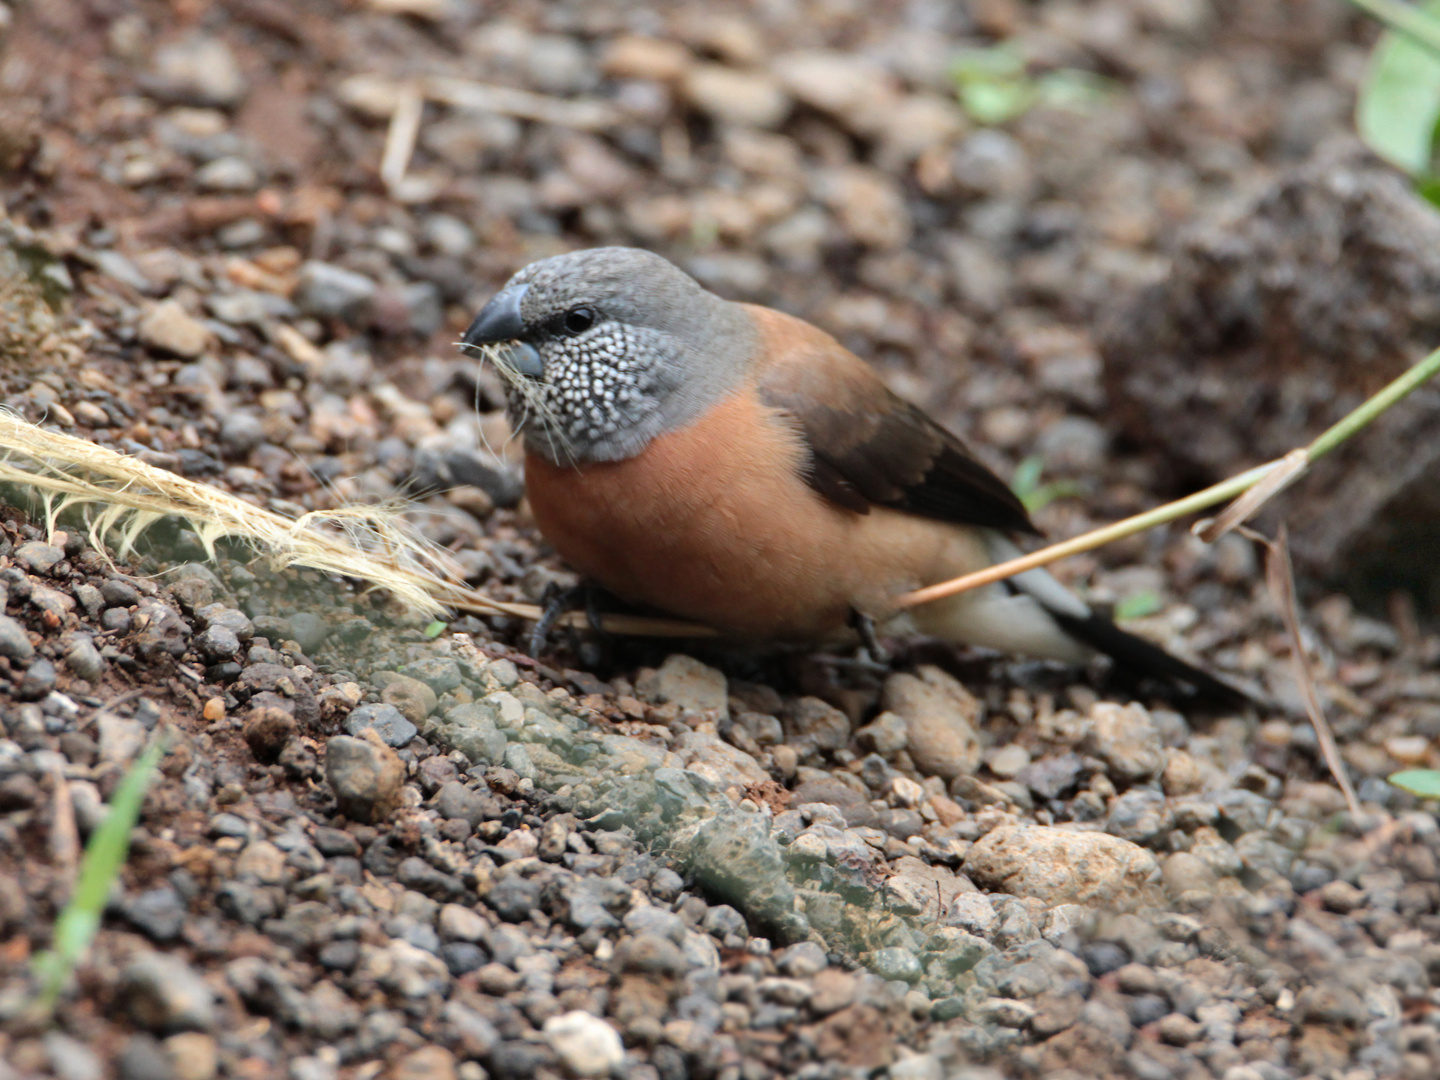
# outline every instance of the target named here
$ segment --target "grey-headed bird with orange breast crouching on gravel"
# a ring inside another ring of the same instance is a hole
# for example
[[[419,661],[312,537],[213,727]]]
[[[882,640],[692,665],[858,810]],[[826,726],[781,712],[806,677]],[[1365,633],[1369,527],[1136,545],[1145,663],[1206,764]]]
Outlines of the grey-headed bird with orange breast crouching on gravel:
[[[740,641],[883,632],[1066,662],[1103,652],[1205,697],[1238,693],[1044,569],[900,609],[909,590],[1018,554],[1040,534],[1024,504],[834,337],[724,300],[661,255],[533,262],[461,347],[501,374],[540,533],[622,600]]]

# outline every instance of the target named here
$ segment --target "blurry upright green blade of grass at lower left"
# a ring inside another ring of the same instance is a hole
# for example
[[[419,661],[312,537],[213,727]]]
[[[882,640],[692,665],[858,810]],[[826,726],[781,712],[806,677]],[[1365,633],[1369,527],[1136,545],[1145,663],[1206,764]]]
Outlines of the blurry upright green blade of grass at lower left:
[[[111,886],[130,854],[130,832],[140,818],[140,806],[144,804],[145,791],[163,753],[163,740],[157,739],[130,766],[115,788],[105,821],[91,834],[85,845],[75,893],[55,922],[50,949],[35,959],[40,982],[39,1005],[46,1015],[53,1011],[71,972],[85,956],[95,932],[99,930]]]

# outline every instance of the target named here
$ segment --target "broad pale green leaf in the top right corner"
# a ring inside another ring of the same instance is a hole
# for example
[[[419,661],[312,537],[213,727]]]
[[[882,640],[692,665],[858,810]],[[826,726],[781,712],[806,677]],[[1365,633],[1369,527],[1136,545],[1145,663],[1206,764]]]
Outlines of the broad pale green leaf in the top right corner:
[[[1440,16],[1440,0],[1421,9]],[[1433,171],[1440,121],[1440,58],[1394,30],[1369,56],[1369,73],[1355,107],[1355,127],[1365,144],[1414,177]]]

